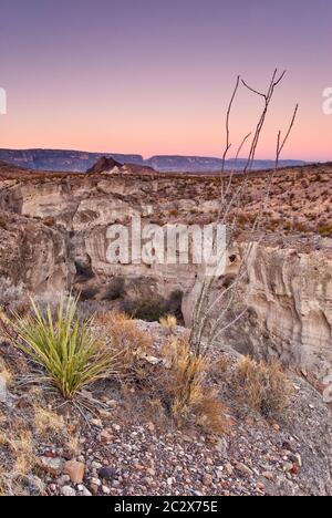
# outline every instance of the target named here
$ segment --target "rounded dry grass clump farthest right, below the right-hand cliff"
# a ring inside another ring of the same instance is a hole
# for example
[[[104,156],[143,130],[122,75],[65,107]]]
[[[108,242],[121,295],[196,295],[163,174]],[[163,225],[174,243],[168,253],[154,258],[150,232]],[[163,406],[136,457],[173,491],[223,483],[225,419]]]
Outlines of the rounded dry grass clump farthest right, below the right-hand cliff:
[[[267,418],[279,417],[288,406],[291,386],[280,362],[243,356],[235,367],[234,383],[241,403]]]

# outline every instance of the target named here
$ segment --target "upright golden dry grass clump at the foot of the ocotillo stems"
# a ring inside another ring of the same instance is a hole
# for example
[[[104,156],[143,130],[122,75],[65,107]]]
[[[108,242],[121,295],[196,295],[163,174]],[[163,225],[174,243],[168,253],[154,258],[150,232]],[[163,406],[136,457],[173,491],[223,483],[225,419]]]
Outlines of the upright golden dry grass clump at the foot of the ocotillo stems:
[[[217,394],[208,387],[208,363],[203,356],[193,354],[184,339],[170,339],[165,346],[167,369],[158,379],[160,398],[177,424],[190,416],[197,425],[210,433],[227,429],[226,408]]]

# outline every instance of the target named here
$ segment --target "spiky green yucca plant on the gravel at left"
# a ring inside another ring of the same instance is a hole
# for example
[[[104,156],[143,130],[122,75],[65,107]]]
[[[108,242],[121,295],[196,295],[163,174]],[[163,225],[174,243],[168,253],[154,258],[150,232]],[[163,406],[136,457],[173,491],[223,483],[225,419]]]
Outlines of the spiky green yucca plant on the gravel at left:
[[[32,314],[14,315],[10,327],[14,345],[41,365],[44,381],[55,385],[65,398],[73,398],[85,385],[116,373],[116,356],[93,331],[93,319],[81,321],[77,298],[70,297],[52,315],[31,299]]]

